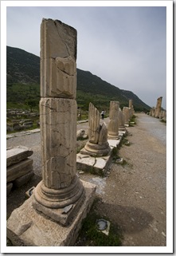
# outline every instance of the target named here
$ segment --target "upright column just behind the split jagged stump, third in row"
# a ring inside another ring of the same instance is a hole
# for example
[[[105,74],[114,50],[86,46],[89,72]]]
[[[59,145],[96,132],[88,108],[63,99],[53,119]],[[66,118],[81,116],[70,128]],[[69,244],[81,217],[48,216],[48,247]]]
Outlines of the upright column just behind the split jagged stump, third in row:
[[[108,139],[119,140],[119,101],[110,101]]]

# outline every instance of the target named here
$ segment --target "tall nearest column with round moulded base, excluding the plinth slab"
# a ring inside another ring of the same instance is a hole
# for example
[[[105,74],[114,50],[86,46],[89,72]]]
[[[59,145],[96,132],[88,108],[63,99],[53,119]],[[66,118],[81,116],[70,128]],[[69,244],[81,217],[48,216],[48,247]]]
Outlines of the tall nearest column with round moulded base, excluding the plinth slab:
[[[43,179],[33,207],[66,225],[72,211],[63,216],[63,208],[84,198],[76,175],[76,30],[51,19],[41,23],[40,113]]]

